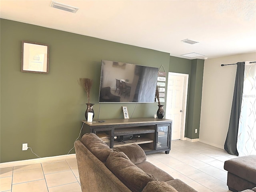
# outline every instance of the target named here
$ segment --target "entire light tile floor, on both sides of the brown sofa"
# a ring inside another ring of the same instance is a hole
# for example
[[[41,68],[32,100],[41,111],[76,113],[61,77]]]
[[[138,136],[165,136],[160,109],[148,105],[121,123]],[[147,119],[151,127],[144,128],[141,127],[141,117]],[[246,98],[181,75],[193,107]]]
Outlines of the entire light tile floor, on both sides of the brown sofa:
[[[147,155],[148,162],[198,192],[230,192],[224,162],[235,158],[201,143],[172,141],[170,154]],[[1,192],[81,192],[75,158],[0,169]]]

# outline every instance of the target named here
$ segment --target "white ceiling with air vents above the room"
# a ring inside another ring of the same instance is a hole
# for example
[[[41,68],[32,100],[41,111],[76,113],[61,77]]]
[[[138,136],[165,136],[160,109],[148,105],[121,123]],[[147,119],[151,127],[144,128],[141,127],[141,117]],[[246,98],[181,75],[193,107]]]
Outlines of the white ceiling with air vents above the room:
[[[195,57],[201,59],[256,52],[256,0],[54,1],[79,10],[52,8],[51,0],[0,0],[0,17],[181,58],[192,52],[203,54]]]

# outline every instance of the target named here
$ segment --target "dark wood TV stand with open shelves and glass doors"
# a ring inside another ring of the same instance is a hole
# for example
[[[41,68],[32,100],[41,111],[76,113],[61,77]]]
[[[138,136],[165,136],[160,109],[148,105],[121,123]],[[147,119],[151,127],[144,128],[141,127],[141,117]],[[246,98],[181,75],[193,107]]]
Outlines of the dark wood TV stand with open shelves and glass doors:
[[[146,154],[171,149],[172,120],[155,118],[106,119],[82,121],[82,135],[92,132],[110,148],[136,143]]]

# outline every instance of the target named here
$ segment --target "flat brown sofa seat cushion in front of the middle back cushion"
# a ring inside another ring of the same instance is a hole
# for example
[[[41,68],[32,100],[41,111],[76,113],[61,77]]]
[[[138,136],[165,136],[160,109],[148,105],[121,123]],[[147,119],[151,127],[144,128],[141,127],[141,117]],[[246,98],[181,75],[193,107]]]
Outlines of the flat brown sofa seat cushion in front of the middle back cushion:
[[[169,180],[174,179],[168,173],[166,173],[162,169],[154,166],[150,162],[145,161],[145,162],[136,164],[136,166],[138,168],[142,169],[144,172],[154,175],[154,177],[158,178],[158,181],[169,181]]]

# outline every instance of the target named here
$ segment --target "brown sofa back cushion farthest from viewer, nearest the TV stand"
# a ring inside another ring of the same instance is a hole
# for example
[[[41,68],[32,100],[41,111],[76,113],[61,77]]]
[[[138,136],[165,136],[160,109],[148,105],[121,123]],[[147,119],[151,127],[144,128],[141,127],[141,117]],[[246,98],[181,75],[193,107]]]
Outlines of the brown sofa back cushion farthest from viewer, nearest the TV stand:
[[[106,162],[109,154],[113,149],[104,143],[96,134],[86,133],[80,140],[92,154],[94,154],[101,162]]]

